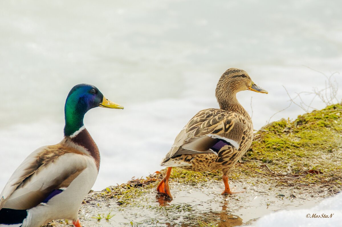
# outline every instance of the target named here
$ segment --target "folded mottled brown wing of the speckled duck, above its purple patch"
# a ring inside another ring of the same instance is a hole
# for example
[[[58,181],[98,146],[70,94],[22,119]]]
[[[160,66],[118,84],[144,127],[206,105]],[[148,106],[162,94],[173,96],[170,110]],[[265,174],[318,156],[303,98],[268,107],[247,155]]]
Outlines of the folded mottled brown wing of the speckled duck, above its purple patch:
[[[244,116],[221,109],[198,112],[178,134],[167,157],[181,154],[211,153],[219,139],[239,149],[244,131],[248,127]]]

